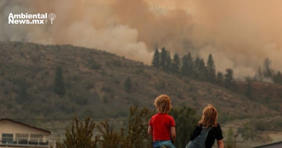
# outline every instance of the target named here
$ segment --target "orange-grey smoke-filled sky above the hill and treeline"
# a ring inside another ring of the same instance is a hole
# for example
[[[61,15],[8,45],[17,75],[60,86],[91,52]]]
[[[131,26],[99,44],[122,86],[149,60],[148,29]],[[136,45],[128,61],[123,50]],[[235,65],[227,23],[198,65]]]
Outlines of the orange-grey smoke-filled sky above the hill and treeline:
[[[253,76],[266,57],[281,70],[282,1],[49,0],[0,2],[0,40],[71,44],[150,63],[156,47],[191,52],[216,69]],[[53,24],[8,24],[10,13],[55,13]]]

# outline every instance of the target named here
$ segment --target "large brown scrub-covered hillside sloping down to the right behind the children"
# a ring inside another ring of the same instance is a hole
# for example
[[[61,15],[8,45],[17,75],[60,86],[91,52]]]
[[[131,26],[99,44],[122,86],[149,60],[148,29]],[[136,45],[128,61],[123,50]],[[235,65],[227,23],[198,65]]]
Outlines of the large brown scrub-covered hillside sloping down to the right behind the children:
[[[63,69],[64,96],[53,91],[57,66]],[[131,92],[124,87],[128,77]],[[187,105],[198,113],[211,103],[218,108],[221,122],[279,114],[225,88],[105,51],[0,42],[0,118],[124,117],[132,105],[154,109],[154,98],[160,94],[171,96],[173,106]]]

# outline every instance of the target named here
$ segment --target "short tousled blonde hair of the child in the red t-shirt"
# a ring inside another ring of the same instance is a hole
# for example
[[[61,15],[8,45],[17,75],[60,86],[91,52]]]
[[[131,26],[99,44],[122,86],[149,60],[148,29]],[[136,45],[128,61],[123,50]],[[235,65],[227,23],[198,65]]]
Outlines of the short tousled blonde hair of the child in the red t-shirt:
[[[154,105],[159,113],[165,114],[171,110],[171,101],[169,96],[162,94],[155,99]]]

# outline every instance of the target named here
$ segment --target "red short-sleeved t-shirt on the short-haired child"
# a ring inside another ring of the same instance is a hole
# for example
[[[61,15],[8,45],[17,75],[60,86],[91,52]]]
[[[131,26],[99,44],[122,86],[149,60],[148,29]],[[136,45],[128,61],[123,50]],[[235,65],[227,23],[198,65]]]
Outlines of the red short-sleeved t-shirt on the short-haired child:
[[[153,128],[153,140],[171,140],[170,127],[175,126],[171,116],[162,113],[155,114],[149,125]]]

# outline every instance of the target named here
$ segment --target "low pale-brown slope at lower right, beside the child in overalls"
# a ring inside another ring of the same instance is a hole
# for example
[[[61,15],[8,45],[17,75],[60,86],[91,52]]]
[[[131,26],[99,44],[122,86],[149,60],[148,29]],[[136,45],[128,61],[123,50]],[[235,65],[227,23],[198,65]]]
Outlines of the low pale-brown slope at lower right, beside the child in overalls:
[[[228,137],[228,130],[232,128],[232,137],[238,135],[237,145],[251,147],[281,141],[281,125],[282,116],[234,120],[226,122],[222,126],[222,132],[224,137]]]

